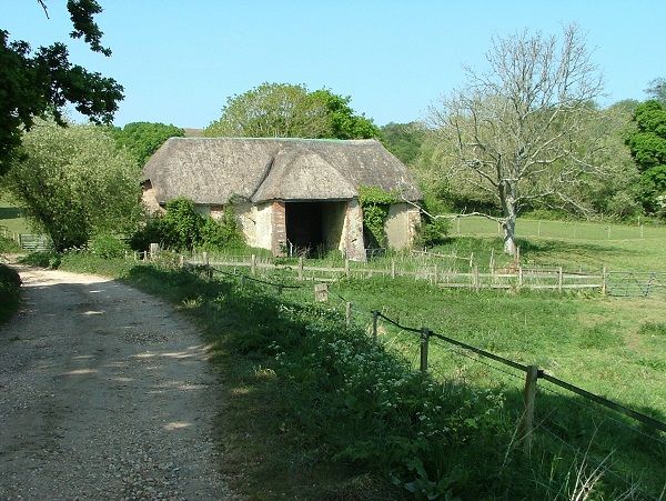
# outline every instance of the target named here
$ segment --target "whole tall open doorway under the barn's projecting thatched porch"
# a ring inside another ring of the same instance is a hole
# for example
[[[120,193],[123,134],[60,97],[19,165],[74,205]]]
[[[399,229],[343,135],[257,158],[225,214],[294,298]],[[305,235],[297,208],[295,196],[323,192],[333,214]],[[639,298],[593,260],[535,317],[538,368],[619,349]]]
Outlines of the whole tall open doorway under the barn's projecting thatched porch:
[[[286,202],[287,253],[312,257],[340,249],[346,202]]]

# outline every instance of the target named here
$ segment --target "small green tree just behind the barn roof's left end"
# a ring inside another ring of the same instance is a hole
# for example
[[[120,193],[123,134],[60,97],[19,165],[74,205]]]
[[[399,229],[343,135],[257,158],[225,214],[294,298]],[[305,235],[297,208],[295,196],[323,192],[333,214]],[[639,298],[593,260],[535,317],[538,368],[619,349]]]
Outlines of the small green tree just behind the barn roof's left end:
[[[169,138],[182,138],[183,136],[185,136],[183,129],[164,123],[132,122],[122,129],[113,129],[113,138],[118,144],[132,153],[140,168]]]

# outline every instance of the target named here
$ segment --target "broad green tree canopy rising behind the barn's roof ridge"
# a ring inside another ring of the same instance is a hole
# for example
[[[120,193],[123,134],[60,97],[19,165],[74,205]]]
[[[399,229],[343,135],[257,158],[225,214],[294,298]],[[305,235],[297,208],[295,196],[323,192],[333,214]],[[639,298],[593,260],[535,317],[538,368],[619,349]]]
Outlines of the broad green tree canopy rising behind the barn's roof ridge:
[[[350,97],[327,89],[310,92],[305,86],[262,83],[230,97],[222,117],[204,129],[204,136],[336,139],[379,136],[372,120],[355,114],[350,102]]]

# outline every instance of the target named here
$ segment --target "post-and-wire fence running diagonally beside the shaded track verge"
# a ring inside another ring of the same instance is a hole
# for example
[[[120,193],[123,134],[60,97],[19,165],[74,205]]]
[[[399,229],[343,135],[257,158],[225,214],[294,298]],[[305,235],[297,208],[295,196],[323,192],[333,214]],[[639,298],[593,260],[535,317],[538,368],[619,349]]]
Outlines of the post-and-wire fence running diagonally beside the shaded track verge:
[[[312,283],[253,277],[194,263],[208,278],[215,274],[255,283],[278,293],[312,289]],[[242,270],[242,271],[241,271]],[[347,328],[360,329],[400,353],[442,383],[462,381],[507,395],[516,410],[516,447],[529,457],[534,443],[562,447],[581,468],[612,477],[624,485],[618,499],[663,500],[666,493],[666,423],[605,397],[563,381],[535,367],[461,342],[424,327],[405,325],[385,309],[367,310],[326,283],[314,285],[316,301],[336,310]],[[387,335],[389,330],[394,335]],[[660,494],[659,494],[660,492]]]

